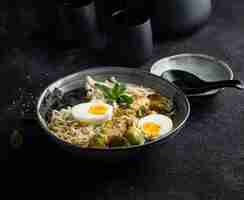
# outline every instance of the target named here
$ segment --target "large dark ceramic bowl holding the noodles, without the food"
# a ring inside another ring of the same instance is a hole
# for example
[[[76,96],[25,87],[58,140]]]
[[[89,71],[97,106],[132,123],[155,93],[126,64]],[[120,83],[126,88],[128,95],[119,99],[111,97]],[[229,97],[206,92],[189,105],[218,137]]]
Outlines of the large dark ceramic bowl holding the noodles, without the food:
[[[176,115],[173,119],[174,128],[168,133],[167,136],[158,138],[157,140],[147,142],[144,145],[130,146],[130,147],[117,147],[112,149],[96,149],[96,148],[80,148],[77,145],[66,143],[56,136],[54,136],[47,127],[46,115],[50,106],[52,106],[52,95],[55,88],[58,88],[64,94],[83,88],[85,84],[85,77],[90,75],[97,80],[103,81],[111,76],[115,76],[119,81],[126,83],[134,83],[150,87],[159,91],[162,95],[172,98],[176,105]],[[143,155],[144,152],[160,147],[159,144],[167,142],[170,138],[177,135],[185,124],[190,113],[190,105],[186,96],[170,82],[159,78],[149,72],[144,72],[138,69],[122,68],[122,67],[99,67],[87,69],[62,79],[49,85],[41,94],[37,104],[38,120],[48,134],[48,136],[62,148],[71,151],[73,154],[88,157],[94,160],[104,161],[120,161],[127,158],[136,158]]]

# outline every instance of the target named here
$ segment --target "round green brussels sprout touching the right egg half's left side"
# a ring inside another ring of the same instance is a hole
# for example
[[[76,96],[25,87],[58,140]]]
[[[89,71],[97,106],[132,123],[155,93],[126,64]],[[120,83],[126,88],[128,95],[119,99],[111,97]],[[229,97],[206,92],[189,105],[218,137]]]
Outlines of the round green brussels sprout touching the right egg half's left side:
[[[145,142],[145,138],[141,130],[134,126],[129,127],[126,133],[126,138],[132,145],[144,144]]]

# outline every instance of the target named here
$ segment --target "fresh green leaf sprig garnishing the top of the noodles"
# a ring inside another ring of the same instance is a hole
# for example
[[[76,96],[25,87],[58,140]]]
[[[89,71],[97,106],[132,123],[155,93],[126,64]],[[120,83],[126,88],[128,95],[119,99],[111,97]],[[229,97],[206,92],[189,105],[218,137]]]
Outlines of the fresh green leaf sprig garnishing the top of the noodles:
[[[133,98],[126,93],[127,88],[123,83],[116,81],[112,88],[100,83],[96,83],[95,86],[103,92],[104,97],[109,101],[127,106],[133,103]]]

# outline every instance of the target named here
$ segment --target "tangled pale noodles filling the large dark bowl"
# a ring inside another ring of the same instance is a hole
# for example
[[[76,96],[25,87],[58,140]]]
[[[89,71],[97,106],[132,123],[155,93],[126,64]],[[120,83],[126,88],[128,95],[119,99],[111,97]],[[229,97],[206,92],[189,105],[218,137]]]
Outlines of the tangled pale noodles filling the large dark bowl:
[[[111,88],[113,82],[115,81],[116,80],[114,78],[111,78],[102,84]],[[93,100],[99,99],[102,102],[106,102],[103,93],[96,88],[95,83],[95,80],[93,80],[91,77],[87,77],[87,96],[91,97]],[[67,107],[61,110],[52,110],[48,128],[59,139],[71,144],[79,145],[83,148],[90,146],[91,141],[96,136],[106,135],[106,137],[99,139],[104,139],[103,142],[105,146],[107,146],[110,144],[110,140],[112,140],[111,138],[115,136],[124,138],[128,127],[137,127],[140,117],[152,113],[159,113],[159,111],[155,111],[150,107],[152,104],[150,96],[158,95],[160,97],[160,95],[157,94],[154,90],[133,84],[127,84],[127,92],[133,97],[133,103],[130,105],[130,107],[121,107],[116,102],[113,102],[113,117],[111,120],[100,124],[82,123],[73,118],[72,108]],[[165,99],[166,97],[162,98]],[[168,101],[170,102],[170,100]],[[163,104],[160,102],[154,102],[154,106],[156,109],[158,109],[157,106],[168,106],[166,103],[164,102]],[[143,112],[140,112],[142,116],[138,116],[137,113],[141,108],[143,108]],[[101,143],[101,141],[99,142]]]

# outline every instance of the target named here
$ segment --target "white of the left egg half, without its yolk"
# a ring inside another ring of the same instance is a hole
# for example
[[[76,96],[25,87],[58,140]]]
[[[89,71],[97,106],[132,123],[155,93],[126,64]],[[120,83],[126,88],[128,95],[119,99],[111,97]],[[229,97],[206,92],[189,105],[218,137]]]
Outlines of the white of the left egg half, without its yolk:
[[[92,114],[89,112],[91,106],[102,104],[107,108],[106,113],[104,114]],[[113,107],[109,104],[98,103],[98,102],[89,102],[81,103],[72,107],[72,116],[74,119],[87,122],[87,123],[102,123],[107,120],[111,120],[113,116]]]

